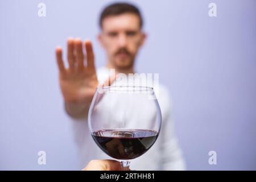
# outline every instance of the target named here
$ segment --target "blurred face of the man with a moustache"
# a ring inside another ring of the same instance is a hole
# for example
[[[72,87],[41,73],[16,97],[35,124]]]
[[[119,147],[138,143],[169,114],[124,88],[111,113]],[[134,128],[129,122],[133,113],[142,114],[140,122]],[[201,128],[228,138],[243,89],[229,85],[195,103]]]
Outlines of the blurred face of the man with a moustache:
[[[133,67],[135,56],[144,39],[145,34],[141,31],[139,16],[136,14],[107,16],[102,21],[99,40],[106,49],[109,64],[114,68]]]

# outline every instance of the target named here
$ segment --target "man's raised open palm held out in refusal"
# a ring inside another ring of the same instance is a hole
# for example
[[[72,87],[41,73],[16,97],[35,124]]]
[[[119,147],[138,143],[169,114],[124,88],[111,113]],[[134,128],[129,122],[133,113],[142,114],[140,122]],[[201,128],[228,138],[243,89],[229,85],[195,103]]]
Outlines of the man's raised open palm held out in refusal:
[[[66,104],[83,106],[81,111],[88,111],[93,94],[98,86],[92,43],[84,42],[86,54],[83,52],[82,40],[69,38],[67,47],[68,68],[65,68],[63,51],[56,48],[56,59],[59,67],[59,82]],[[85,61],[86,60],[86,61]],[[113,82],[108,79],[109,84]]]

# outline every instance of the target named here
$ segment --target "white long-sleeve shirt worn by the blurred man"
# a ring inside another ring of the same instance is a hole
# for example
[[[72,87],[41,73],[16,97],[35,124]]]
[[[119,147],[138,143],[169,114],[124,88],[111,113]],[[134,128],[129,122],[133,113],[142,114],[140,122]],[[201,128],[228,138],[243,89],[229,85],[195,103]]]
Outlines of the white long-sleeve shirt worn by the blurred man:
[[[110,76],[106,67],[97,69],[99,82]],[[114,85],[122,85],[115,82]],[[143,85],[143,83],[140,83]],[[162,127],[154,145],[139,158],[131,160],[130,168],[135,170],[184,170],[185,163],[174,132],[174,121],[171,115],[171,102],[167,89],[159,85],[158,102],[162,113]],[[81,168],[92,159],[112,159],[106,155],[94,142],[88,129],[86,119],[72,119],[73,131],[77,146]]]

